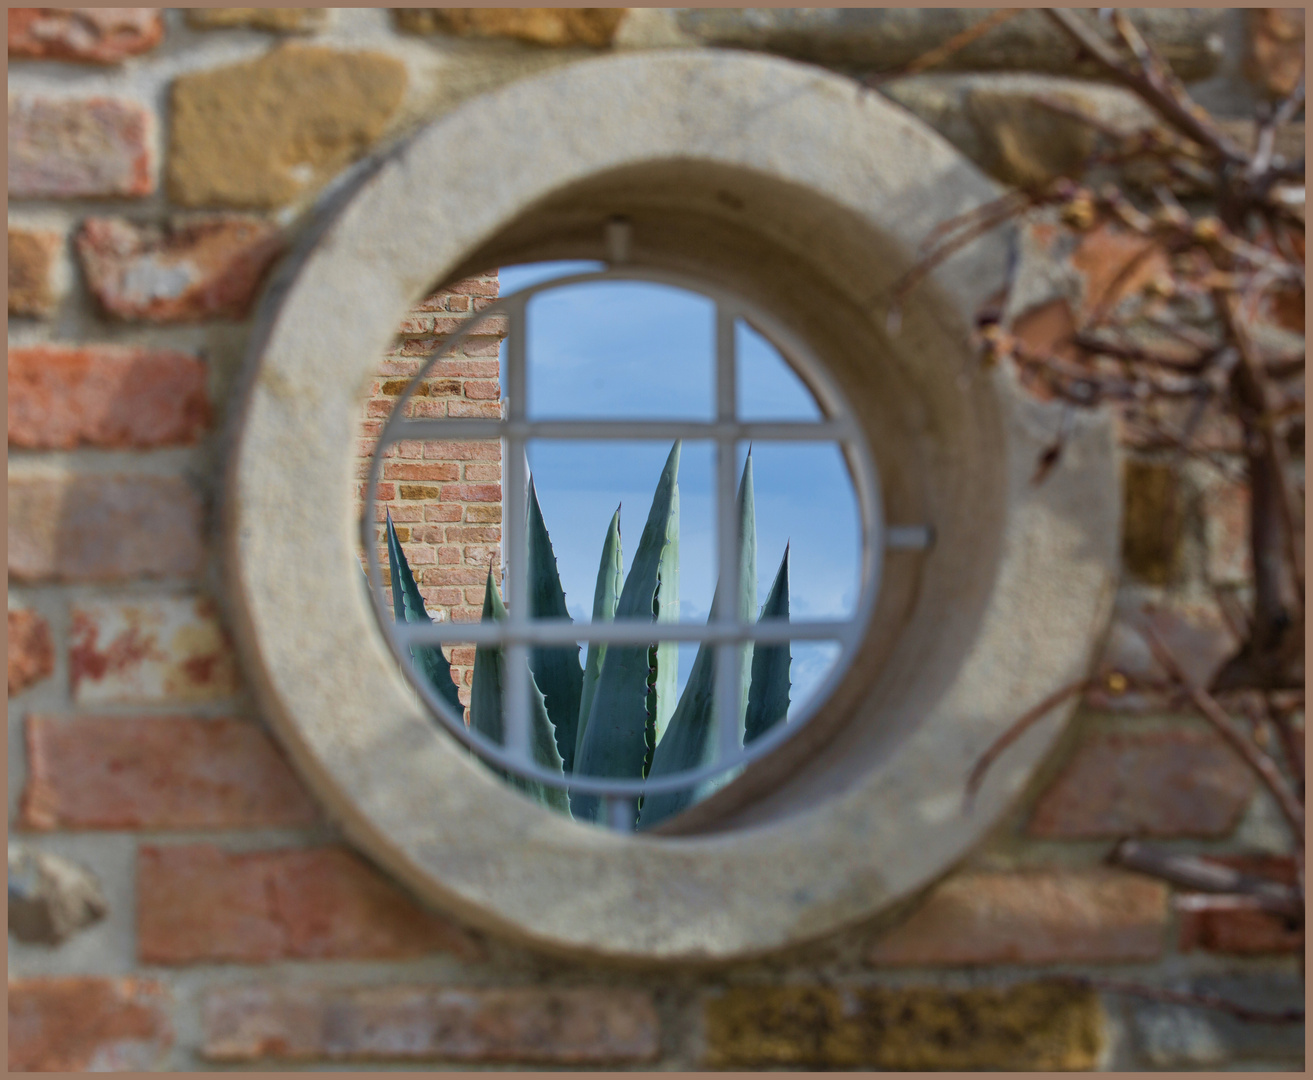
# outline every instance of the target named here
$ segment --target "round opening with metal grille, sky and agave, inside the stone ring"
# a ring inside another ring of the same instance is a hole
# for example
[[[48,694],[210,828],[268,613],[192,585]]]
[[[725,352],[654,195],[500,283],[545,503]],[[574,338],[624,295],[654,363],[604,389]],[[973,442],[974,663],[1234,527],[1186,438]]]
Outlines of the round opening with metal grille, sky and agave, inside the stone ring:
[[[616,220],[609,266],[503,269],[511,295],[399,395],[362,528],[381,625],[448,731],[544,806],[653,831],[823,705],[874,609],[885,547],[924,547],[930,529],[885,526],[871,449],[802,341],[712,283],[629,264],[629,240]],[[494,328],[507,335],[502,417],[432,415],[435,374]],[[429,621],[424,593],[442,591],[423,588],[378,513],[379,480],[407,475],[389,467],[398,444],[507,465],[506,570],[491,550],[477,627]],[[628,552],[626,497],[643,522]],[[759,552],[777,558],[767,576]]]

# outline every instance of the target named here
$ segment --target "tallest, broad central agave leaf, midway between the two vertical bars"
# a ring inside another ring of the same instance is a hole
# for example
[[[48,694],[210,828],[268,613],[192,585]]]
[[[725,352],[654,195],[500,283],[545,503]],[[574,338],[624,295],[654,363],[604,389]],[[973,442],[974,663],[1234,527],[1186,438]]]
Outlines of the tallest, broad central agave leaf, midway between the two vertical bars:
[[[680,444],[675,442],[653,495],[647,522],[629,577],[616,604],[616,619],[651,619],[662,552],[670,541],[671,505],[679,483]],[[588,711],[575,772],[583,776],[638,779],[646,758],[647,646],[613,644],[607,650]],[[571,799],[576,818],[593,820],[596,795]]]

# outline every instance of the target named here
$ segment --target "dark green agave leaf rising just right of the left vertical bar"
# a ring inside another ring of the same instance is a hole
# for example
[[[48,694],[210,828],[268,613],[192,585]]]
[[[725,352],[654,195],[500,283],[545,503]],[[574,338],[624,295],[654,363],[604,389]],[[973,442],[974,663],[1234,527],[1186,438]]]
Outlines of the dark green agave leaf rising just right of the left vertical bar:
[[[566,593],[561,588],[557,556],[551,550],[538,492],[529,479],[529,615],[530,618],[570,618]],[[534,646],[529,650],[529,671],[542,689],[548,715],[555,730],[557,751],[565,770],[574,768],[575,728],[579,724],[579,698],[583,694],[583,668],[579,646]]]

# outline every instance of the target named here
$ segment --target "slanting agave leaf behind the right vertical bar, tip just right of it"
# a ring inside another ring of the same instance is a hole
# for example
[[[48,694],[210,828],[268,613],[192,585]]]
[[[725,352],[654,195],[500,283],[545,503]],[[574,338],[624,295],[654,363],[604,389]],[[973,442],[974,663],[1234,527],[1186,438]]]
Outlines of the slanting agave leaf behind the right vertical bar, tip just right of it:
[[[737,499],[738,528],[739,528],[739,617],[744,621],[752,618],[756,604],[756,507],[752,491],[752,453],[748,451],[743,463],[743,475],[739,479]],[[720,598],[720,584],[716,587],[716,596],[712,598],[712,612],[714,613]],[[716,726],[714,689],[716,689],[716,663],[714,650],[702,644],[697,650],[693,660],[693,669],[689,672],[688,684],[680,696],[675,713],[662,739],[656,743],[653,755],[649,776],[670,776],[685,769],[696,769],[709,765],[716,751],[713,731]],[[752,654],[748,646],[739,650],[741,659],[741,689],[739,689],[739,744],[743,741],[743,723],[747,714],[748,682],[751,681]],[[729,776],[717,777],[704,782],[697,787],[696,798],[701,798],[716,787],[723,786]],[[643,795],[641,808],[641,825],[651,828],[659,821],[678,814],[695,800],[692,787],[683,791],[672,791],[663,795]]]

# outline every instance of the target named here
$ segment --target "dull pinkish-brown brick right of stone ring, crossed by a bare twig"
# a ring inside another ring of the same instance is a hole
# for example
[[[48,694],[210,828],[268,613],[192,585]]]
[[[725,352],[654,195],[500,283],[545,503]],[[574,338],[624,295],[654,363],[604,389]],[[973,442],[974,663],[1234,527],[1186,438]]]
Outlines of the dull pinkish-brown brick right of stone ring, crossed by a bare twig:
[[[1117,604],[1086,702],[1096,709],[1142,713],[1180,707],[1183,697],[1154,659],[1137,627],[1152,626],[1184,672],[1207,686],[1238,642],[1215,602],[1173,601],[1154,608]]]

